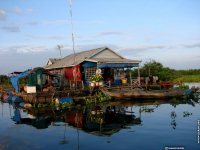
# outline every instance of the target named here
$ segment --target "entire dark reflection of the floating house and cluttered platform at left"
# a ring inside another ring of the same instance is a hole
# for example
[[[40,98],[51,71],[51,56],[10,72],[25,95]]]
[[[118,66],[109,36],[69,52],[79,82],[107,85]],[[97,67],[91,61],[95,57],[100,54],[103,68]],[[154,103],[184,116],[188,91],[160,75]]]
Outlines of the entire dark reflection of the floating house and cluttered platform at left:
[[[15,107],[15,110],[19,108]],[[37,129],[48,128],[56,122],[66,122],[68,125],[96,135],[112,135],[129,125],[141,124],[133,112],[126,111],[125,107],[95,107],[94,109],[71,109],[58,111],[52,109],[29,109],[28,114],[34,118],[20,118],[16,123],[27,124]],[[17,111],[20,112],[20,111]],[[18,114],[18,116],[21,116]],[[13,117],[15,118],[15,116]],[[15,119],[13,119],[15,121]]]

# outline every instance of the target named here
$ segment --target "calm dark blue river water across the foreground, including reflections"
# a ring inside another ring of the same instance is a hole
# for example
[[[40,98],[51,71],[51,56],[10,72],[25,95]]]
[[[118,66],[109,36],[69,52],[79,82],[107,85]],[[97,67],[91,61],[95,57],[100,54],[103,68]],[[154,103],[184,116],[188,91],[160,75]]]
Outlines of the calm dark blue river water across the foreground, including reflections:
[[[199,150],[200,100],[25,110],[0,103],[0,150]]]

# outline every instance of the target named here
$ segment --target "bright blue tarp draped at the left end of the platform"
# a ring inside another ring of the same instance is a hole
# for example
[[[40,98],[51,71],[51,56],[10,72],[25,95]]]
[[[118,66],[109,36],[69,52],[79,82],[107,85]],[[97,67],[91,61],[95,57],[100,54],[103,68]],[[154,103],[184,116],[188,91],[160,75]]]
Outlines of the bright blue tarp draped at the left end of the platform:
[[[19,92],[19,87],[18,87],[18,81],[19,81],[19,79],[27,76],[29,73],[30,73],[30,71],[26,70],[26,71],[20,73],[19,75],[10,78],[10,82],[12,83],[12,86],[15,89],[16,93]]]

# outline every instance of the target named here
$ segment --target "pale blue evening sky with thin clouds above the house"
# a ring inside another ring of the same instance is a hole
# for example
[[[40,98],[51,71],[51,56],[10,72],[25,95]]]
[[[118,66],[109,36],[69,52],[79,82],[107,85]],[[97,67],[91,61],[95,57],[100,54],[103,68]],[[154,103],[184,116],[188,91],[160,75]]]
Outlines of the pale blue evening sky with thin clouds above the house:
[[[109,47],[129,59],[200,69],[200,0],[0,0],[0,74]],[[61,55],[58,49],[61,48]]]

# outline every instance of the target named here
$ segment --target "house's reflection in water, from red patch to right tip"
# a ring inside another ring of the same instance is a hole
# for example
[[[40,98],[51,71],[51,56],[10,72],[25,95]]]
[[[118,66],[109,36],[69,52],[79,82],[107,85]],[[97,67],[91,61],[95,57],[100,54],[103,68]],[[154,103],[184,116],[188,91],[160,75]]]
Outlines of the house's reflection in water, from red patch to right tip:
[[[97,135],[111,135],[128,125],[141,124],[140,118],[136,118],[133,113],[126,114],[123,107],[116,106],[67,111],[66,122]]]

